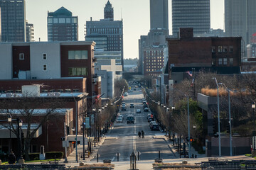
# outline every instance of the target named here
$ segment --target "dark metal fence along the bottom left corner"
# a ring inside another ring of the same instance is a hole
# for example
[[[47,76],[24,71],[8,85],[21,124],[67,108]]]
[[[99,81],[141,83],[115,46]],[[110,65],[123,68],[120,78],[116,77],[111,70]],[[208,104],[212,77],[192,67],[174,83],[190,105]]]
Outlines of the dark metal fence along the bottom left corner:
[[[26,170],[65,170],[65,164],[14,164],[14,165],[0,165],[0,170],[16,170],[16,169],[26,169]]]

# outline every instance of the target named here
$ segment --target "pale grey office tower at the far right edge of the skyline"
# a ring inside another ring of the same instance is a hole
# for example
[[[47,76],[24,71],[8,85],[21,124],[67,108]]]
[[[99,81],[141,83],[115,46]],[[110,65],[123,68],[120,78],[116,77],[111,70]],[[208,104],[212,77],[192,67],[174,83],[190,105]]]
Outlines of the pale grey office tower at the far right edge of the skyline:
[[[256,33],[256,1],[225,0],[225,33],[230,36],[242,36],[245,45],[250,44]]]

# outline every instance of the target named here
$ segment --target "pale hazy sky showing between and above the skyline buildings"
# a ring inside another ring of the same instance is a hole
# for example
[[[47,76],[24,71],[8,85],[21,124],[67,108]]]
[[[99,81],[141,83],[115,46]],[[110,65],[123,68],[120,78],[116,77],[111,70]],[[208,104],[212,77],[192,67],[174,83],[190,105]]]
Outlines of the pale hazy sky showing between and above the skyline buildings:
[[[85,23],[104,18],[107,0],[26,0],[26,19],[33,23],[35,40],[47,41],[47,11],[56,11],[64,6],[78,16],[78,40],[85,40]],[[139,57],[138,40],[147,35],[150,28],[149,0],[110,0],[114,7],[114,20],[123,19],[124,58]],[[210,28],[224,25],[224,0],[210,0]],[[171,29],[171,0],[169,0],[169,32]]]

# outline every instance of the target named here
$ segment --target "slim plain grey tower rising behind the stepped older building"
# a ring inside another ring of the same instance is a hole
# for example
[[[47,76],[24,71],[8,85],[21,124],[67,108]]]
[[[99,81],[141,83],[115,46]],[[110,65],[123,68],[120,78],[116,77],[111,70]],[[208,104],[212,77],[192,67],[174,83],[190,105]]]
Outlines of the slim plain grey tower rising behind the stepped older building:
[[[150,0],[150,29],[169,30],[168,0]]]

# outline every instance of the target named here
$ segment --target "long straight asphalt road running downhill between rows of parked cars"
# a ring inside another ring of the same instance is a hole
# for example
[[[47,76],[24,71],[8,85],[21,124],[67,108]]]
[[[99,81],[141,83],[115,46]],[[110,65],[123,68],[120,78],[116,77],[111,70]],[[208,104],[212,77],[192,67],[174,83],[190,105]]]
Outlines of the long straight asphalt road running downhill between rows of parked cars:
[[[119,153],[119,161],[129,161],[130,154],[132,152],[139,152],[140,160],[151,160],[159,157],[159,150],[161,152],[161,158],[174,159],[166,141],[160,135],[164,135],[160,131],[151,131],[149,129],[149,123],[147,122],[146,115],[150,113],[143,111],[142,98],[144,98],[142,92],[133,91],[128,96],[124,97],[123,102],[126,103],[127,111],[119,111],[124,115],[123,123],[114,123],[114,128],[107,134],[107,137],[111,139],[105,140],[102,147],[97,152],[100,157],[99,160],[111,159],[112,162],[117,161],[117,153]],[[130,103],[134,103],[134,108],[129,108]],[[136,113],[136,110],[140,108],[142,113]],[[127,124],[127,115],[134,115],[134,124]],[[144,139],[138,137],[138,132],[144,130]],[[95,158],[96,159],[96,158]],[[93,159],[93,160],[95,160]]]

